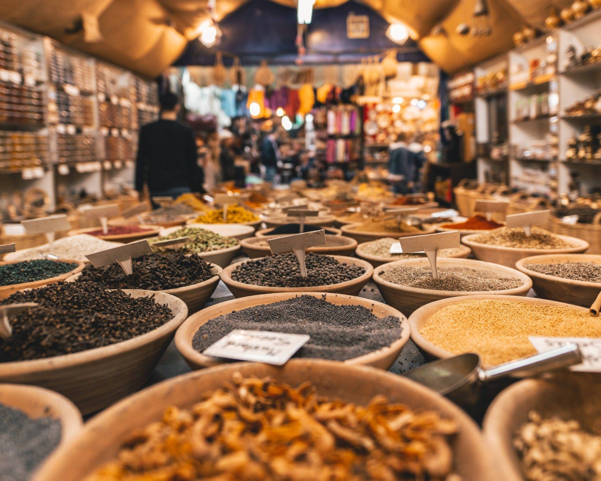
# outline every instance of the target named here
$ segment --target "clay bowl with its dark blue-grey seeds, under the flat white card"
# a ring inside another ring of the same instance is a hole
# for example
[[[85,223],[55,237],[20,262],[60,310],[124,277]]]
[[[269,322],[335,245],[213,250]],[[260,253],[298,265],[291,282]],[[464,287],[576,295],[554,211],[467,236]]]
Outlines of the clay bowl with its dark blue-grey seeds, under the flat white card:
[[[192,369],[216,366],[227,361],[201,353],[233,329],[309,334],[310,341],[297,356],[379,369],[388,369],[409,340],[406,318],[383,302],[290,292],[233,299],[203,309],[180,326],[175,346]]]

